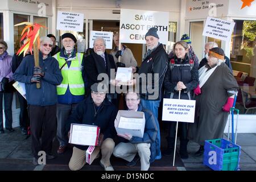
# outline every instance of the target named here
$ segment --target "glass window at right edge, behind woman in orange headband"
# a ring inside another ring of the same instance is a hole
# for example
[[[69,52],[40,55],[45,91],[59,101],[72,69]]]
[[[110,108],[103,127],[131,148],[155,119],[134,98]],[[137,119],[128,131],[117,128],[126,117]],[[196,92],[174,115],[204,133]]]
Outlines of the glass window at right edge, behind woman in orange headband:
[[[241,113],[256,114],[256,21],[234,20],[230,60],[240,92],[237,105]]]

